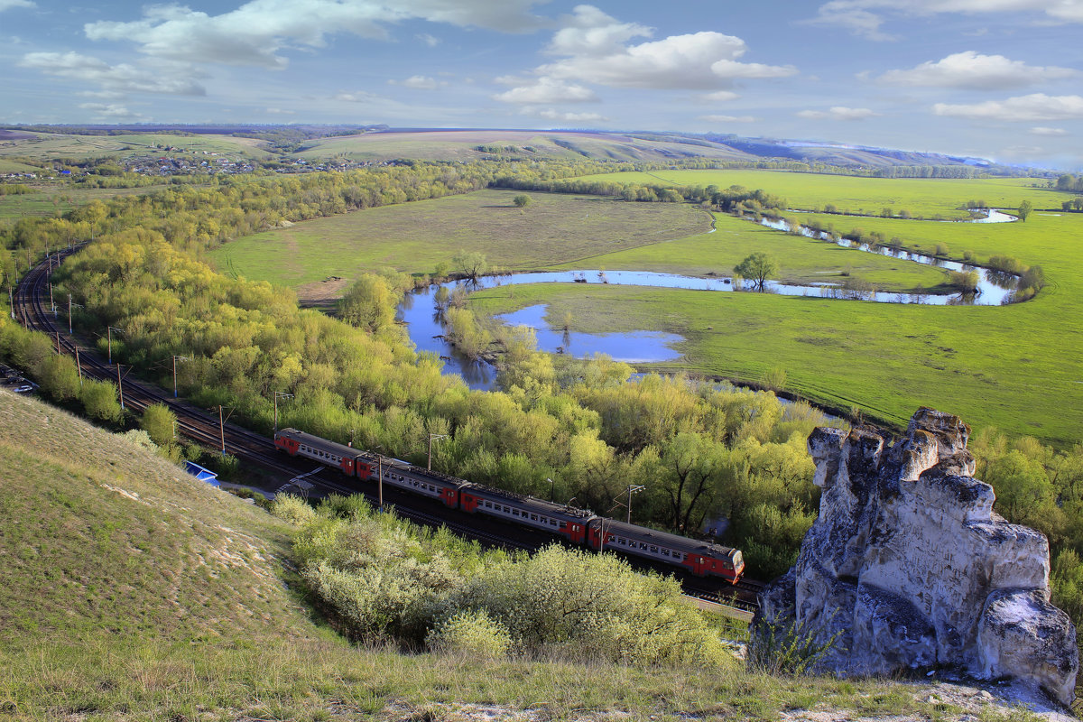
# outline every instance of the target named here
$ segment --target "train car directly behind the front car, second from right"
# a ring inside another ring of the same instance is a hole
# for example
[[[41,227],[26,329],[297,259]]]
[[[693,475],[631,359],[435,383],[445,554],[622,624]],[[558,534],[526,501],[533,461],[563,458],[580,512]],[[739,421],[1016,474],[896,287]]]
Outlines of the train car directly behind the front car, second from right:
[[[587,522],[595,516],[587,509],[543,501],[481,484],[467,484],[462,487],[459,509],[471,514],[485,514],[512,524],[545,529],[576,544],[586,543]]]

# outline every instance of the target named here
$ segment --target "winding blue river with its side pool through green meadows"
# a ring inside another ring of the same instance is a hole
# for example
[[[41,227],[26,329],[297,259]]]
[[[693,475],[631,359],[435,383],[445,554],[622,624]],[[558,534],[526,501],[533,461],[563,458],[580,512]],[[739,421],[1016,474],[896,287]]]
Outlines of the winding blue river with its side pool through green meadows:
[[[1004,223],[1016,220],[1012,215],[990,211],[986,218],[977,219],[978,223]],[[788,232],[790,225],[781,219],[765,218],[760,221],[779,231]],[[947,271],[976,271],[979,275],[979,290],[977,293],[934,296],[928,293],[898,293],[885,291],[863,291],[846,289],[834,284],[819,284],[810,286],[787,285],[777,281],[768,281],[766,291],[783,296],[814,296],[832,299],[856,299],[873,301],[878,303],[922,303],[931,305],[1001,305],[1009,302],[1012,292],[1015,289],[1017,278],[1009,274],[1002,274],[989,271],[980,266],[968,265],[955,261],[943,261],[941,259],[908,251],[895,250],[887,247],[870,248],[861,244],[841,239],[835,240],[831,234],[821,233],[800,226],[799,232],[809,237],[820,240],[838,242],[839,245],[857,248],[860,251],[890,255],[904,261],[913,261],[926,265],[937,266]],[[448,290],[466,281],[449,281],[443,284]],[[556,271],[539,273],[518,273],[503,276],[486,276],[474,284],[470,284],[469,290],[481,290],[485,288],[496,288],[501,286],[514,286],[518,284],[592,284],[612,286],[648,286],[655,288],[680,288],[702,291],[734,291],[734,284],[730,278],[712,277],[700,278],[694,276],[681,276],[676,274],[655,273],[649,271]],[[405,296],[399,305],[396,318],[407,325],[410,340],[418,351],[432,352],[444,359],[444,373],[458,373],[462,376],[471,389],[493,389],[496,383],[496,370],[491,364],[472,360],[458,353],[447,341],[444,340],[444,326],[441,314],[436,311],[434,297],[441,286],[429,286],[423,289],[412,291]],[[589,356],[595,353],[605,353],[617,360],[628,363],[652,363],[676,360],[680,358],[680,353],[673,349],[673,345],[683,341],[683,338],[675,333],[663,333],[656,331],[629,331],[618,333],[579,333],[566,332],[552,329],[545,320],[546,305],[533,305],[520,311],[496,316],[508,325],[525,325],[535,329],[537,333],[537,347],[540,351],[550,353],[570,353],[577,357]]]

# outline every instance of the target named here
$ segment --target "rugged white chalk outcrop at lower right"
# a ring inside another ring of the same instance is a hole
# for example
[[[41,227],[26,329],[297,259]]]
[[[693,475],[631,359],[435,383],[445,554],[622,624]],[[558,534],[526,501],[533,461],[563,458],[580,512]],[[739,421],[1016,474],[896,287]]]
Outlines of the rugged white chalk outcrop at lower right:
[[[973,478],[969,433],[925,408],[890,447],[863,429],[812,432],[820,516],[794,567],[760,595],[757,629],[834,640],[821,670],[947,666],[1070,704],[1075,628],[1049,604],[1048,541],[993,512],[992,487]]]

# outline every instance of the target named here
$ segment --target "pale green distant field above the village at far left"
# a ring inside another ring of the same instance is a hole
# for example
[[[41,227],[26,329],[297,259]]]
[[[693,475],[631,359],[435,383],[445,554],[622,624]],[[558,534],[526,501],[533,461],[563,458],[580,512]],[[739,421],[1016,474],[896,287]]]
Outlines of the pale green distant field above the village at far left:
[[[123,135],[69,135],[35,133],[35,137],[0,143],[0,160],[11,157],[95,158],[126,157],[159,153],[156,145],[181,148],[191,153],[218,153],[265,158],[268,152],[259,141],[229,135],[171,135],[168,133],[129,133]],[[168,155],[162,152],[162,155]]]

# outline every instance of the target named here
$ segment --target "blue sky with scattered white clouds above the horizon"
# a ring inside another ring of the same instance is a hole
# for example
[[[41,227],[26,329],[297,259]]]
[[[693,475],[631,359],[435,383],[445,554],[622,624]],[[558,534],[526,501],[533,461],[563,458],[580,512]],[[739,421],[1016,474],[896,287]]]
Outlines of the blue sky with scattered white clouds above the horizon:
[[[1083,0],[0,0],[0,123],[833,141],[1083,169]]]

